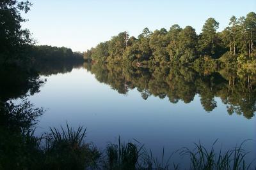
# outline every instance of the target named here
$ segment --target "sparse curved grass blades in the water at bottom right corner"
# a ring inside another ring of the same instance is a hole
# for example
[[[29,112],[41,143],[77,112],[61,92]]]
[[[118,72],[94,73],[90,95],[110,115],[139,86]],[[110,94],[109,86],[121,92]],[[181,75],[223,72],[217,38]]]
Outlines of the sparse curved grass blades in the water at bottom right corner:
[[[221,150],[220,152],[214,150],[217,140],[214,141],[211,150],[207,150],[199,142],[198,144],[195,143],[194,150],[182,148],[180,154],[189,156],[191,162],[190,169],[250,169],[252,162],[246,165],[245,157],[248,152],[243,150],[243,145],[248,140],[243,141],[241,145],[231,148],[224,153]]]

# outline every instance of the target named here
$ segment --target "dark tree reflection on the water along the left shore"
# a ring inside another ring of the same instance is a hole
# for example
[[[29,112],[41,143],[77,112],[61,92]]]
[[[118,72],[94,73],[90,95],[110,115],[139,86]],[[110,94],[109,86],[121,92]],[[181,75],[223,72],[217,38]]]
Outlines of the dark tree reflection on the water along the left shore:
[[[33,95],[40,92],[40,86],[45,83],[45,80],[40,79],[40,75],[67,73],[79,66],[83,66],[83,62],[36,62],[35,66],[29,67],[28,70],[16,66],[1,66],[0,99],[8,101]]]

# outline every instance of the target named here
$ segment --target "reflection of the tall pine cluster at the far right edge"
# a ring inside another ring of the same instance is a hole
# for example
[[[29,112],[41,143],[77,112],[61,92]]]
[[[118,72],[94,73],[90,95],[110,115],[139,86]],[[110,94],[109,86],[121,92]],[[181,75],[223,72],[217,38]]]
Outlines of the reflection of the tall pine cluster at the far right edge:
[[[228,114],[243,114],[246,118],[252,118],[256,111],[256,82],[253,80],[255,74],[245,73],[241,70],[237,72],[238,76],[231,71],[223,71],[222,74],[228,83],[223,86],[218,95],[223,103],[227,104]],[[249,81],[248,77],[251,77]]]

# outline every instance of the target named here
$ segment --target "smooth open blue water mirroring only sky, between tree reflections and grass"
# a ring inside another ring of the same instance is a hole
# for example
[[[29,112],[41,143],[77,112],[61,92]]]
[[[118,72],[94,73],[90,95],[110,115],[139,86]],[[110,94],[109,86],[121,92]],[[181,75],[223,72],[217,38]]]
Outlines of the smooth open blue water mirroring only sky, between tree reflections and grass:
[[[161,155],[163,147],[168,155],[183,146],[193,148],[198,141],[209,147],[218,139],[216,148],[225,150],[244,139],[255,139],[255,117],[228,115],[220,97],[214,97],[217,107],[207,112],[198,94],[190,103],[170,103],[156,96],[144,100],[136,88],[119,94],[83,67],[42,78],[47,78],[47,83],[28,97],[35,106],[47,108],[39,118],[38,135],[68,122],[72,127],[87,127],[86,140],[101,150],[120,136],[124,141],[140,141],[155,155]],[[256,142],[249,141],[245,149],[251,151],[252,159]],[[181,161],[175,156],[172,160]]]

